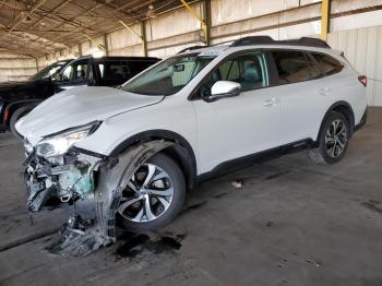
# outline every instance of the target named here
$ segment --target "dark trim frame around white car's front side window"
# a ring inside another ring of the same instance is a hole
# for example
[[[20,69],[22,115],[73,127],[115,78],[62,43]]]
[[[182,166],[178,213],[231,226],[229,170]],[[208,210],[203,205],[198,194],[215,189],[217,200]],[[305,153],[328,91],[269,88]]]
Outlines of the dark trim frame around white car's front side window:
[[[264,48],[255,48],[255,49],[246,49],[246,50],[239,50],[232,53],[229,53],[227,57],[223,58],[218,63],[215,64],[215,67],[206,74],[203,76],[203,79],[196,84],[196,86],[192,90],[192,92],[190,93],[190,95],[187,97],[188,100],[190,102],[194,102],[194,100],[203,100],[202,97],[196,96],[196,92],[201,87],[202,83],[210,78],[216,69],[218,69],[224,62],[228,61],[231,58],[235,58],[237,56],[241,56],[241,55],[247,55],[247,53],[251,53],[251,52],[263,52],[264,53],[264,58],[265,58],[265,64],[267,68],[267,80],[268,80],[268,85],[267,86],[263,86],[263,87],[259,87],[255,90],[251,90],[251,91],[259,91],[259,90],[264,90],[264,88],[268,88],[268,87],[274,87],[275,86],[275,81],[274,81],[274,67],[271,67],[270,64],[270,60],[271,60],[271,56],[268,52],[268,49],[264,49]],[[273,60],[273,59],[272,59]],[[277,72],[277,71],[276,71]],[[250,91],[247,91],[250,92]]]

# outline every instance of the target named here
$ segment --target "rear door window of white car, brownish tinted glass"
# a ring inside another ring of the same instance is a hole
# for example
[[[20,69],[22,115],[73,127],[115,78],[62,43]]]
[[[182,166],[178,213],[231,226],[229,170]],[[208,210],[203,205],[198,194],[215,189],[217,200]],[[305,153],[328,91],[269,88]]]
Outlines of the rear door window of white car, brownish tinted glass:
[[[302,51],[273,50],[279,83],[298,83],[321,76],[321,71]]]

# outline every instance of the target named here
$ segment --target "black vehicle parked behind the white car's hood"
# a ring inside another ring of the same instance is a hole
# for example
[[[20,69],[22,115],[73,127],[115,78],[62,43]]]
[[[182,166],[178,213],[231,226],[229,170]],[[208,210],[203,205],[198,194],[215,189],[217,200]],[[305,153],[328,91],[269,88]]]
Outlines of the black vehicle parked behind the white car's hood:
[[[15,122],[49,96],[74,86],[117,87],[157,61],[143,57],[81,57],[56,62],[28,82],[0,84],[0,130],[10,129],[20,138]]]

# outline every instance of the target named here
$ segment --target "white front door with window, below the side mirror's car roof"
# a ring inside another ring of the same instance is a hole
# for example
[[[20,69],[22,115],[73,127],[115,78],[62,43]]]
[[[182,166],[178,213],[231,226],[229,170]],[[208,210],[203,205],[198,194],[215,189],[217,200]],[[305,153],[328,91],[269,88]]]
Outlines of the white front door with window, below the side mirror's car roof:
[[[223,80],[240,83],[240,95],[212,103],[203,100],[203,96],[211,95],[212,85]],[[268,82],[262,51],[229,57],[203,81],[199,97],[193,100],[202,172],[278,146],[280,106]]]

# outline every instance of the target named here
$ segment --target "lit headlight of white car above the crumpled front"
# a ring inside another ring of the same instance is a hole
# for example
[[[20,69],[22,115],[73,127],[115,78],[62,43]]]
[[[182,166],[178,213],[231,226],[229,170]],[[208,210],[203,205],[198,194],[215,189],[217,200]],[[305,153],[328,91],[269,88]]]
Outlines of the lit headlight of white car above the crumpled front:
[[[41,157],[63,155],[74,143],[94,133],[100,123],[100,121],[95,121],[86,126],[71,128],[55,135],[46,136],[36,145],[36,154]]]

